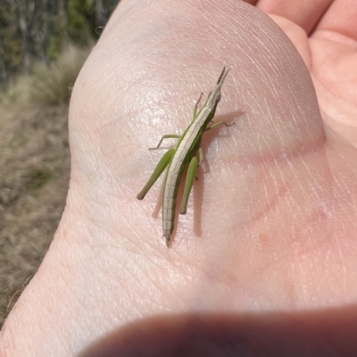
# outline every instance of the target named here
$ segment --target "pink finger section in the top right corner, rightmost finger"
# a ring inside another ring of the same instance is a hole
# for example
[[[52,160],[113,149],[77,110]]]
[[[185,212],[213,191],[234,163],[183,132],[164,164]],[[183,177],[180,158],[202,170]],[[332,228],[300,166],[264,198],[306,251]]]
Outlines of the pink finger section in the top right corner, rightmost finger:
[[[336,0],[320,20],[317,29],[333,31],[357,40],[357,1]]]

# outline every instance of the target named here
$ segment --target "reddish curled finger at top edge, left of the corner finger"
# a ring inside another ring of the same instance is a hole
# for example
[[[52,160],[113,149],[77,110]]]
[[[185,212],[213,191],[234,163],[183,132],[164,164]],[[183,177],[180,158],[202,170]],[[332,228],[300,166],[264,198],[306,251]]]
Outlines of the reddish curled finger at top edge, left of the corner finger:
[[[312,28],[315,28],[320,17],[332,3],[333,0],[260,0],[256,6],[263,12],[285,17],[287,20],[295,22],[307,34],[310,34]]]

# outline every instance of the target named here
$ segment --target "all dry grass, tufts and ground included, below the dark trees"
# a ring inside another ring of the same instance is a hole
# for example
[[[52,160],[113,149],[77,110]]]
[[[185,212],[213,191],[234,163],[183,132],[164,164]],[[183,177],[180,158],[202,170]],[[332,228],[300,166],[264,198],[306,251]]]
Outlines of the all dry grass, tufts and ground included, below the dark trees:
[[[67,103],[87,51],[70,46],[0,95],[0,328],[46,254],[70,180]]]

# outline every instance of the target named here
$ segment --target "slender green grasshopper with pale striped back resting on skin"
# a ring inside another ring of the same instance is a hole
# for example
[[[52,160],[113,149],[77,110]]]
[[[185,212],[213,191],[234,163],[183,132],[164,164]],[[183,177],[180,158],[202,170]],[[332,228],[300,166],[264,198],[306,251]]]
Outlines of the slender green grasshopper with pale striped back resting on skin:
[[[177,137],[179,138],[179,142],[176,144],[175,148],[168,150],[168,152],[162,157],[149,181],[145,184],[144,189],[137,194],[137,199],[144,199],[146,192],[150,190],[151,186],[154,184],[160,174],[162,174],[162,171],[165,169],[165,167],[169,166],[165,176],[162,199],[162,230],[163,237],[165,238],[168,247],[170,245],[172,231],[174,230],[176,200],[178,196],[179,183],[181,181],[185,167],[189,163],[184,197],[180,209],[181,214],[186,214],[187,200],[195,180],[196,169],[197,166],[199,166],[203,161],[203,151],[200,148],[203,133],[212,129],[213,127],[220,125],[228,126],[228,124],[222,121],[209,126],[210,122],[212,122],[212,118],[214,117],[217,105],[220,101],[220,89],[228,75],[228,71],[229,69],[226,71],[226,69],[223,68],[217,85],[215,85],[214,89],[209,93],[202,110],[200,110],[197,114],[196,111],[198,103],[202,98],[201,94],[200,98],[195,103],[194,118],[182,135],[162,136],[162,140],[154,149],[158,149],[162,141],[167,138]],[[195,158],[197,150],[199,150],[199,162],[197,162],[197,158]]]

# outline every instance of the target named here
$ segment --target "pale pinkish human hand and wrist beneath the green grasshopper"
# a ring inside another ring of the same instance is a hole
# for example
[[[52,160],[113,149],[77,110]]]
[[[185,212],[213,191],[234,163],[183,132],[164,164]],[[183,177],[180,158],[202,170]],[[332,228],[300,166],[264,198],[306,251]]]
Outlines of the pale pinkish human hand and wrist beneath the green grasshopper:
[[[356,355],[357,3],[293,3],[120,3],[75,85],[67,206],[0,356]],[[147,149],[223,65],[236,126],[205,135],[168,249],[160,183],[136,199],[163,153]]]

